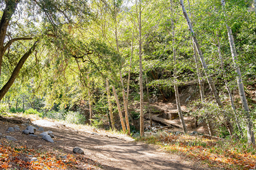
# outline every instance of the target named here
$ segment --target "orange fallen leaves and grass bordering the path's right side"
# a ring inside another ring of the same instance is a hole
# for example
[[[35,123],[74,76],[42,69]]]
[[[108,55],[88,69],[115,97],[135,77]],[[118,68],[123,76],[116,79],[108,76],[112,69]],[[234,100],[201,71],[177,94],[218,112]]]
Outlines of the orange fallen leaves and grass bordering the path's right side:
[[[161,150],[186,155],[194,161],[202,161],[209,167],[219,167],[228,170],[255,169],[256,146],[242,141],[212,140],[203,136],[173,135],[164,132],[157,136],[138,138],[157,145]]]

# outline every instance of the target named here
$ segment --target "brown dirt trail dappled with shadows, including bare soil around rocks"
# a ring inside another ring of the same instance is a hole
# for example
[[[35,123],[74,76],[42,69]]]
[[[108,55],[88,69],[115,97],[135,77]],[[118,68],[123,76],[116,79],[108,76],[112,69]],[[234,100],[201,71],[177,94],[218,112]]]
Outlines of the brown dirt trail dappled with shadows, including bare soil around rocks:
[[[76,146],[84,150],[86,157],[98,165],[99,169],[106,170],[191,170],[201,169],[196,167],[196,163],[186,161],[185,157],[162,153],[144,143],[134,142],[131,139],[108,138],[103,135],[92,135],[91,132],[81,132],[65,127],[55,122],[40,120],[33,121],[45,129],[52,131],[55,135],[55,143],[50,143],[27,136],[21,131],[5,133],[8,127],[17,124],[0,122],[0,133],[16,138],[19,144],[27,147],[37,148],[43,145],[42,149],[48,151],[61,150],[62,153],[72,154],[72,149]],[[41,132],[36,132],[39,135]],[[114,137],[114,136],[112,136]],[[78,169],[83,169],[82,167]],[[87,169],[87,168],[86,168]]]

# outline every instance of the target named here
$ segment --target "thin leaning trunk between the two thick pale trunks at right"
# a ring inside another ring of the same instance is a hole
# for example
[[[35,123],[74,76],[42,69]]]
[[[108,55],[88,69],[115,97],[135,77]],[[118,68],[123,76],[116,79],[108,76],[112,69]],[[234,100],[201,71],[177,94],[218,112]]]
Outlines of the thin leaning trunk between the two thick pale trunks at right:
[[[223,79],[224,79],[224,82],[225,82],[226,89],[227,89],[227,91],[228,91],[228,95],[229,95],[231,107],[232,107],[232,109],[234,110],[236,125],[237,125],[237,127],[238,127],[238,130],[239,130],[239,132],[240,132],[241,137],[243,137],[243,136],[244,136],[244,133],[243,133],[243,130],[242,130],[242,128],[241,128],[241,125],[240,125],[239,120],[238,120],[238,117],[237,117],[236,108],[235,108],[235,105],[234,105],[234,100],[233,100],[233,97],[232,97],[231,90],[230,90],[230,88],[229,88],[229,86],[228,86],[228,82],[227,82],[227,79],[226,79],[226,74],[225,74],[224,68],[223,68],[222,55],[221,55],[221,51],[220,51],[220,43],[219,43],[218,34],[217,34],[217,42],[218,42],[217,48],[218,48],[219,59],[220,59],[220,62],[221,62],[221,69],[222,69],[222,73],[223,73]]]

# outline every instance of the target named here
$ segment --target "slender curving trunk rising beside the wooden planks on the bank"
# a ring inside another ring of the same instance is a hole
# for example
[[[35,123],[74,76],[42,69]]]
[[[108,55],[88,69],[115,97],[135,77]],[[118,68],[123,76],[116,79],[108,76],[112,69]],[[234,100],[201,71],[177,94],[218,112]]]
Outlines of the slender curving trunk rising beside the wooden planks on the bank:
[[[171,10],[173,11],[173,7],[172,7],[172,1],[171,1]],[[173,61],[174,61],[174,89],[175,89],[175,97],[176,97],[176,104],[177,104],[177,108],[179,111],[179,117],[180,117],[180,121],[182,124],[182,128],[184,133],[188,133],[187,131],[187,126],[185,124],[183,115],[182,115],[182,110],[181,110],[181,103],[180,103],[180,96],[179,96],[179,90],[178,90],[178,85],[177,83],[177,62],[176,62],[176,48],[175,48],[175,27],[174,27],[174,21],[173,21],[173,12],[172,12],[172,34],[173,34]]]

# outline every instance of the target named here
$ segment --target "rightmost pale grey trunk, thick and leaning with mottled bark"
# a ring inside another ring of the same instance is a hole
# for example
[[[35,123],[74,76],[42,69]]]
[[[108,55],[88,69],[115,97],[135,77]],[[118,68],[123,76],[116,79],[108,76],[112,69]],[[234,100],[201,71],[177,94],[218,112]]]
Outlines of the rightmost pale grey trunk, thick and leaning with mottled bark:
[[[225,0],[221,0],[221,5],[223,7],[224,16],[227,17],[226,11],[225,11]],[[243,110],[245,112],[245,116],[247,119],[247,126],[246,126],[247,138],[248,138],[249,143],[255,144],[254,132],[252,130],[253,123],[251,120],[251,114],[250,114],[249,106],[248,106],[245,92],[244,92],[244,85],[243,85],[241,71],[237,64],[238,59],[237,59],[237,53],[236,53],[236,49],[235,49],[234,38],[233,38],[232,30],[228,24],[227,24],[227,32],[228,32],[228,41],[229,41],[229,45],[230,45],[231,56],[233,59],[234,67],[236,69],[235,72],[236,72],[236,80],[237,80],[237,85],[238,85],[239,96],[240,96],[242,107],[243,107]]]

